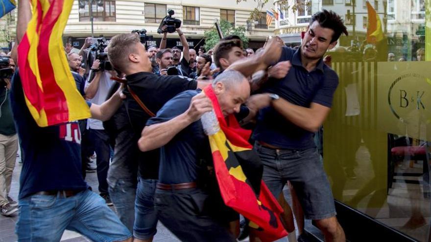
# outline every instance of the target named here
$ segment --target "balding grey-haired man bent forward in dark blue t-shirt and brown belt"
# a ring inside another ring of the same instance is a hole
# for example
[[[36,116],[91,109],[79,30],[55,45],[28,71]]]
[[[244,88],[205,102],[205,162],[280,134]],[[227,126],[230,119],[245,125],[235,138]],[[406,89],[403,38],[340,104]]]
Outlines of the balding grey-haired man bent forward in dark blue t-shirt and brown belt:
[[[235,70],[218,75],[213,88],[226,116],[239,112],[250,95],[247,79]],[[159,220],[181,241],[236,241],[227,227],[238,214],[222,212],[229,209],[217,203],[218,188],[208,189],[205,178],[212,153],[200,117],[211,110],[211,101],[200,90],[182,92],[147,121],[139,141],[143,151],[163,145],[155,205]],[[222,213],[228,218],[220,218]]]

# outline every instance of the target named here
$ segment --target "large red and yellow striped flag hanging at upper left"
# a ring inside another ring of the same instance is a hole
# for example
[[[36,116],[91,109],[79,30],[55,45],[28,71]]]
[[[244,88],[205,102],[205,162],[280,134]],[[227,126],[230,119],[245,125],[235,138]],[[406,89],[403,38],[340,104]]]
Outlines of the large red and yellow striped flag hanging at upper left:
[[[90,117],[63,49],[62,34],[73,0],[32,0],[32,19],[18,45],[25,103],[37,125]]]

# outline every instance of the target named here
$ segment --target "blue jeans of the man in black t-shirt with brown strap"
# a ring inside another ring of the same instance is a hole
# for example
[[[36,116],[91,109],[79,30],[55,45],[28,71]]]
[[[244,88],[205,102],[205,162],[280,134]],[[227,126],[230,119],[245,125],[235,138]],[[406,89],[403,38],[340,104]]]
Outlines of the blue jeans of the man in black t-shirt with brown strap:
[[[157,180],[139,177],[136,189],[135,224],[133,237],[148,240],[157,233],[157,211],[154,207],[154,194]]]

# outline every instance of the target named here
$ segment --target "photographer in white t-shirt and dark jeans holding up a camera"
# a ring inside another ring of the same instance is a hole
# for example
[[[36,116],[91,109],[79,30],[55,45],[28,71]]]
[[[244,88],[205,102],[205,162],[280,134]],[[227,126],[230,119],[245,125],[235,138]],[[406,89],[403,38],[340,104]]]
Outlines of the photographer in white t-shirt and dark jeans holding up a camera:
[[[109,90],[114,82],[111,76],[116,76],[115,71],[101,70],[100,60],[96,59],[91,67],[89,79],[85,83],[85,95],[93,104],[100,105],[106,100]],[[94,78],[92,72],[95,72]],[[89,128],[89,138],[93,143],[96,151],[96,165],[97,165],[97,180],[99,182],[100,196],[105,199],[106,204],[111,206],[111,198],[108,192],[108,182],[106,177],[109,168],[110,146],[109,135],[104,130],[103,124],[100,120],[88,119],[87,127]]]

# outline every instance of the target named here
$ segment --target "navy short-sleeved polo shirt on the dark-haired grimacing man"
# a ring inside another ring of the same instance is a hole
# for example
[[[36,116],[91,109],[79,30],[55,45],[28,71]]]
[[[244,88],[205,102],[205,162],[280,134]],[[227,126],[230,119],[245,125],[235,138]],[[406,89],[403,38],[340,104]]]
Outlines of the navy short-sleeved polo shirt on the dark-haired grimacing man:
[[[317,103],[331,108],[338,76],[334,70],[320,59],[316,67],[308,71],[301,62],[301,48],[296,51],[283,47],[279,62],[290,61],[292,67],[286,77],[270,80],[263,92],[275,93],[288,102],[305,108]],[[273,107],[259,111],[257,126],[253,134],[257,141],[286,148],[308,149],[315,147],[313,133],[288,121]]]

